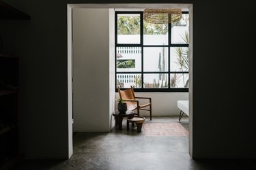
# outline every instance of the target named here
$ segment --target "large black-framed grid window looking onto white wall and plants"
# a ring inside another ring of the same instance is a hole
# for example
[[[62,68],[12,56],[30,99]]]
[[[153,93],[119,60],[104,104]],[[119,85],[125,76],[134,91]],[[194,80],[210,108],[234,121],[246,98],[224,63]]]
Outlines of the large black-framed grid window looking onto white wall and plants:
[[[116,88],[188,92],[188,12],[169,24],[143,20],[143,12],[115,12]]]

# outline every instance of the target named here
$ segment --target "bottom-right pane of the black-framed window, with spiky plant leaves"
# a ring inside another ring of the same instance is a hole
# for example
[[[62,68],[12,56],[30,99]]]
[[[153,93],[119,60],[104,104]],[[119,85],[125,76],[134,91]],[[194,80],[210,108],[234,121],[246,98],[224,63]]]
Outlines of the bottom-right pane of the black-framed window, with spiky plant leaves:
[[[188,73],[171,73],[171,88],[188,88]]]

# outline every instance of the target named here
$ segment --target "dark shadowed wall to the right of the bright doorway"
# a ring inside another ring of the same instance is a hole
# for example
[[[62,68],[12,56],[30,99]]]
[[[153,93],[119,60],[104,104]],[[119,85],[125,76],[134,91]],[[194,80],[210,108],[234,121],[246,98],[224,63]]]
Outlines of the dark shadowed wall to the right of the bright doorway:
[[[193,158],[256,158],[249,43],[255,14],[248,4],[194,5]]]

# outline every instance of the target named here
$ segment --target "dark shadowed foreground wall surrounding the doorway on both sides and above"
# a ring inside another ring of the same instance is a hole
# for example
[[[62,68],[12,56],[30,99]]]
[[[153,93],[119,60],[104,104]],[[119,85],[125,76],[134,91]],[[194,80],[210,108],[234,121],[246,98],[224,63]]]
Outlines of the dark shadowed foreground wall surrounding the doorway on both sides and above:
[[[253,5],[249,1],[10,0],[31,16],[1,20],[20,57],[20,150],[68,158],[67,3],[193,3],[193,158],[255,158]],[[171,146],[170,146],[171,147]]]

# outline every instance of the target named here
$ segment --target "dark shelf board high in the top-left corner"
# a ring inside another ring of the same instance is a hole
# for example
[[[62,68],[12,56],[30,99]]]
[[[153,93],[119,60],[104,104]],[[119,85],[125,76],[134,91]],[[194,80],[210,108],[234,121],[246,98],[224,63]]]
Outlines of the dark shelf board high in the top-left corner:
[[[0,1],[0,20],[30,20],[30,16]]]

